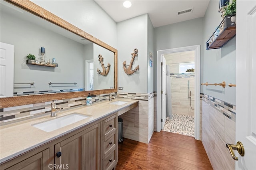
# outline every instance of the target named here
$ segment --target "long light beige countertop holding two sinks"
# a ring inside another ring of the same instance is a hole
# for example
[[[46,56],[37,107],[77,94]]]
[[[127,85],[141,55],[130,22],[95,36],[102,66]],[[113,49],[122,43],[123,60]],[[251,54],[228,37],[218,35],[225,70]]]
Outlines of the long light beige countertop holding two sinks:
[[[69,132],[93,123],[94,121],[125,109],[126,107],[129,107],[130,105],[138,102],[138,100],[131,99],[113,99],[112,102],[114,101],[128,102],[123,105],[112,105],[110,104],[110,101],[102,101],[99,103],[94,103],[92,106],[81,106],[58,112],[56,117],[50,117],[50,115],[46,115],[40,118],[34,118],[18,123],[12,123],[10,125],[1,126],[0,163],[2,164],[3,162],[19,156],[20,154],[41,146],[46,142],[52,141],[60,136],[68,134]],[[71,125],[53,130],[52,132],[45,132],[36,127],[32,127],[34,124],[57,119],[58,117],[69,115],[71,113],[90,115],[90,117],[76,123],[72,123]]]

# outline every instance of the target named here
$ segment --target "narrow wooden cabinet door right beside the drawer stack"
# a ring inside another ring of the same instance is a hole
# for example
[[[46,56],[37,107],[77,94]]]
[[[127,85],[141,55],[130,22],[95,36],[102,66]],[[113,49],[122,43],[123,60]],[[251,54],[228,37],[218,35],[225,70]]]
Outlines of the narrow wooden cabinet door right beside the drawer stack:
[[[100,170],[100,123],[85,130],[83,135],[84,170]]]

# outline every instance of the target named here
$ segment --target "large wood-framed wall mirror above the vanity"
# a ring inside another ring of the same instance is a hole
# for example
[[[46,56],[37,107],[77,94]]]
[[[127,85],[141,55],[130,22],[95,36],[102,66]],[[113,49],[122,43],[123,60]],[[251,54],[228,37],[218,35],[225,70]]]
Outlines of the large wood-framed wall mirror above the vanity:
[[[14,97],[1,97],[1,108],[117,91],[116,49],[33,2],[1,1],[0,7],[1,42],[14,45],[14,74],[7,75]],[[27,63],[29,53],[36,64]]]

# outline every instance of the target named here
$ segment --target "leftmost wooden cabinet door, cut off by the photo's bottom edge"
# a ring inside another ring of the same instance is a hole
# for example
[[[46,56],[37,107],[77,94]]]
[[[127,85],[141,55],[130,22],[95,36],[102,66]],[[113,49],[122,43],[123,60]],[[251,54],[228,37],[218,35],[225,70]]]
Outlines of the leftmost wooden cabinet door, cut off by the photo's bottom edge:
[[[49,166],[49,148],[22,160],[18,164],[7,168],[6,170],[48,170]]]

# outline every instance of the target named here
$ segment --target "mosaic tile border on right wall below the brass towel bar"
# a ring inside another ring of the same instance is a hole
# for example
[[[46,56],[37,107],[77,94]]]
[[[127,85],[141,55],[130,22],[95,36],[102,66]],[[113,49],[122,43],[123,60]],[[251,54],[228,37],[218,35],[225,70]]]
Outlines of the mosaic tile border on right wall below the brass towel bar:
[[[202,100],[206,103],[210,104],[213,108],[223,113],[228,119],[236,122],[236,106],[220,99],[216,99],[215,97],[200,93],[202,94]]]

